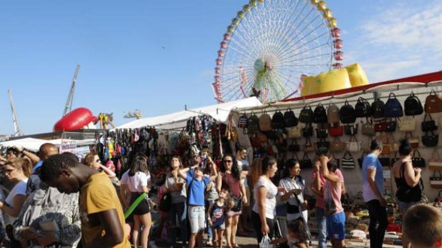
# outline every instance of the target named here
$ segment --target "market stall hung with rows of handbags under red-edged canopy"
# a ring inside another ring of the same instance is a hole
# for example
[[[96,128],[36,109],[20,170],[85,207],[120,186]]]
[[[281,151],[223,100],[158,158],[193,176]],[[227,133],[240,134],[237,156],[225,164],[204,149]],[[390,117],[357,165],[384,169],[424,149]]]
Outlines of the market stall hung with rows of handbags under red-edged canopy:
[[[442,73],[431,73],[362,87],[288,99],[236,112],[238,133],[247,133],[255,157],[274,155],[281,161],[298,158],[301,174],[310,183],[314,151],[327,147],[340,163],[347,192],[347,230],[368,224],[362,199],[362,159],[374,138],[384,142],[384,196],[391,205],[389,229],[400,232],[395,210],[396,186],[390,166],[398,158],[398,141],[408,137],[415,148],[413,166],[422,168],[423,193],[429,201],[439,196],[442,178],[438,157],[442,125]],[[280,167],[280,168],[281,168]],[[310,211],[314,215],[314,211]],[[310,221],[311,220],[311,221]],[[315,229],[313,216],[309,226]],[[366,240],[366,239],[364,239]],[[393,232],[387,243],[400,243]]]

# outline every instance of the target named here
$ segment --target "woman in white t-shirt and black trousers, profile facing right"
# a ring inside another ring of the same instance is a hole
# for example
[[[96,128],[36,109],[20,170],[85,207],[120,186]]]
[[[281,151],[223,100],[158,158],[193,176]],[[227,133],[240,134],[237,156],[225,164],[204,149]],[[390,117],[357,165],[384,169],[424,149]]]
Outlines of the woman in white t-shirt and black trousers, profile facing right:
[[[252,211],[252,222],[255,227],[258,244],[264,235],[273,237],[276,216],[276,194],[278,188],[270,180],[278,170],[276,159],[266,156],[255,158],[252,163],[251,183],[255,203]]]

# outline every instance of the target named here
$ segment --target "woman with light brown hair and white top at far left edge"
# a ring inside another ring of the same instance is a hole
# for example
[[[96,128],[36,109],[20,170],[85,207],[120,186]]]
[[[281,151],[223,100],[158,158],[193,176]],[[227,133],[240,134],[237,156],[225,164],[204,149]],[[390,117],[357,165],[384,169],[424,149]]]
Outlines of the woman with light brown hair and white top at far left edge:
[[[9,192],[5,202],[0,201],[0,209],[5,213],[5,224],[13,224],[26,200],[26,184],[32,172],[31,162],[23,158],[8,160],[3,166],[3,173],[11,182],[17,182]]]

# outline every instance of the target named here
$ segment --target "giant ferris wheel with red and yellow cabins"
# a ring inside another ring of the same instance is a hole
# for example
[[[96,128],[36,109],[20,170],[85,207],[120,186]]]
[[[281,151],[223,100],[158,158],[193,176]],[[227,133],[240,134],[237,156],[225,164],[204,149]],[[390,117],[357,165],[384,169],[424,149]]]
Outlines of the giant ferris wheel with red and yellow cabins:
[[[340,37],[324,1],[250,0],[217,51],[215,99],[256,95],[271,102],[297,96],[303,77],[342,67]]]

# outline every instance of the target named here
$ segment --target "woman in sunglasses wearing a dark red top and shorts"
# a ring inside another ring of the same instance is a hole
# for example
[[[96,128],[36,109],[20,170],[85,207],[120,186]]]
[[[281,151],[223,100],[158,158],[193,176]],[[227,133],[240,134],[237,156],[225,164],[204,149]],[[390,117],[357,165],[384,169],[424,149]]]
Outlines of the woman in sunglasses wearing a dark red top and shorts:
[[[236,247],[235,236],[237,234],[238,220],[241,215],[242,202],[247,203],[246,188],[240,178],[238,162],[232,155],[225,155],[220,168],[221,173],[216,178],[216,190],[229,189],[232,194],[234,206],[226,216],[226,241],[228,247]]]

